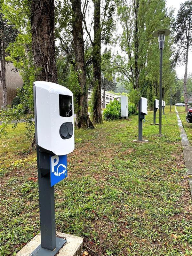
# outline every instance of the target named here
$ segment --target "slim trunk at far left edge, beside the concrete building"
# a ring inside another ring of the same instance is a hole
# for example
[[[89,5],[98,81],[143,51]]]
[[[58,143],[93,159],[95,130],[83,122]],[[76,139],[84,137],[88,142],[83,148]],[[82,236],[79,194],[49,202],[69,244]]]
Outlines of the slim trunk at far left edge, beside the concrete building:
[[[6,86],[6,67],[5,67],[5,44],[4,40],[0,40],[0,82],[3,88],[3,108],[7,106],[7,86]]]

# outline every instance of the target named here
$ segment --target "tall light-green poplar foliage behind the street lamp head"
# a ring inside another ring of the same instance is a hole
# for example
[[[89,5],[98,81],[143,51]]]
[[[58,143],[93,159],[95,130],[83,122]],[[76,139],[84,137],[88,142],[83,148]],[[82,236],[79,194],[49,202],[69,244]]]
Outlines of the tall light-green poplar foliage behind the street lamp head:
[[[137,3],[139,3],[138,6]],[[122,82],[128,91],[136,88],[140,95],[145,96],[147,96],[148,85],[150,85],[155,89],[153,93],[157,97],[159,51],[158,40],[152,37],[152,33],[162,27],[171,26],[172,12],[167,11],[164,0],[121,0],[118,1],[117,13],[123,28],[122,34],[116,38],[116,43],[120,45],[122,51],[118,52],[114,58],[114,65],[119,73],[118,81]],[[175,79],[171,58],[172,41],[171,36],[165,39],[163,60],[165,97]],[[137,74],[137,69],[139,74]],[[136,84],[136,78],[138,78],[138,84]],[[138,103],[135,102],[135,104]]]

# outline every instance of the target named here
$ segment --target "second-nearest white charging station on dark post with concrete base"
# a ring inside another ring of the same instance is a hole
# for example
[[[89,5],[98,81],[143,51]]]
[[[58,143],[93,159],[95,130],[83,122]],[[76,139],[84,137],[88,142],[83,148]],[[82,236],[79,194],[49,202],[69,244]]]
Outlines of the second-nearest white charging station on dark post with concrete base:
[[[148,114],[148,104],[147,104],[148,100],[146,98],[141,97],[139,100],[139,113],[138,113],[138,117],[139,117],[139,136],[138,136],[138,140],[133,140],[136,142],[148,142],[148,140],[143,140],[143,119],[145,117],[145,115]]]

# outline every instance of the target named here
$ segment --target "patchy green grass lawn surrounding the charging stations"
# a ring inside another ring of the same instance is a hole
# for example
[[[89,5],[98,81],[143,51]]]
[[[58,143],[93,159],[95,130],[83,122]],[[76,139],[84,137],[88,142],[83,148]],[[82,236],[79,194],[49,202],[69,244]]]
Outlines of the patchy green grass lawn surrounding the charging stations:
[[[148,143],[132,141],[138,116],[75,130],[68,178],[55,186],[56,226],[83,236],[89,255],[192,255],[180,130],[174,108],[165,113],[173,125],[163,116],[163,137],[150,125],[153,112],[146,116]],[[28,148],[24,124],[0,140],[1,256],[15,255],[39,232],[36,152]]]

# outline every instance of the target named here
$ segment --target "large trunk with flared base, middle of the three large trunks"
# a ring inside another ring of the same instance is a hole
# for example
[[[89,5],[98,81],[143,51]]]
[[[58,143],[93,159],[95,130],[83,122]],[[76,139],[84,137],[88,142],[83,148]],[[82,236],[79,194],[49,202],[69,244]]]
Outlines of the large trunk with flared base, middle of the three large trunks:
[[[78,82],[81,92],[78,95],[78,110],[76,113],[76,126],[78,128],[94,128],[88,114],[88,88],[86,86],[86,72],[84,63],[83,16],[81,0],[72,0],[73,23],[72,34],[75,51],[75,67],[78,73]]]

